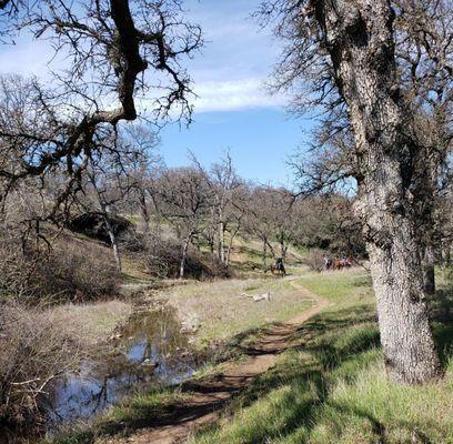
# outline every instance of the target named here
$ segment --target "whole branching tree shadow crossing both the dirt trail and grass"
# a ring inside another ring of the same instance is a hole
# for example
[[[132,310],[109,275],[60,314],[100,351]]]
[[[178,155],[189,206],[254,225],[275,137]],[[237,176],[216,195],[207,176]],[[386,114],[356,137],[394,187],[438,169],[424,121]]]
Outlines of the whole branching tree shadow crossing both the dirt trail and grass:
[[[441,293],[441,297],[434,302],[435,304],[431,310],[435,321],[434,334],[445,363],[453,340],[451,305],[449,305],[449,316],[445,316],[445,304],[451,303],[451,293]],[[362,417],[370,424],[376,442],[385,444],[389,442],[386,431],[379,418],[372,417],[368,412],[334,404],[329,398],[328,390],[332,382],[332,372],[336,369],[351,364],[348,366],[351,374],[348,374],[344,381],[345,383],[353,383],[356,372],[363,369],[364,363],[371,362],[368,353],[379,347],[379,331],[375,321],[375,311],[371,304],[324,312],[293,331],[290,341],[282,341],[275,346],[274,353],[293,350],[294,352],[302,352],[304,355],[302,359],[292,363],[280,363],[254,379],[250,375],[214,375],[187,382],[178,387],[178,392],[182,393],[182,401],[180,400],[174,404],[162,404],[159,407],[145,402],[131,402],[121,417],[105,418],[92,430],[79,433],[77,438],[57,442],[92,444],[99,435],[129,435],[137,430],[153,425],[180,425],[229,405],[234,412],[236,402],[240,403],[241,407],[246,407],[278,387],[290,386],[291,390],[284,392],[279,400],[280,404],[284,406],[281,408],[283,412],[281,421],[269,428],[254,431],[254,438],[244,441],[244,443],[283,437],[300,428],[304,430],[303,433],[310,434],[312,428],[316,426],[316,418],[319,418],[321,410],[329,405],[330,408],[336,410],[340,416]],[[272,352],[269,349],[262,350],[259,346],[244,346],[242,344],[251,336],[269,334],[279,327],[284,330],[285,325],[273,324],[265,329],[251,329],[243,332],[235,336],[235,346],[242,354],[250,356],[269,354]],[[371,359],[374,359],[373,356],[376,355],[372,355]],[[171,389],[169,390],[171,391]],[[192,393],[202,396],[199,396],[197,402],[185,402],[184,394],[191,395]],[[234,401],[238,396],[238,401]],[[209,433],[209,430],[212,431],[217,426],[210,425],[201,431],[200,435]],[[401,427],[409,432],[416,430],[412,423],[401,423]],[[421,432],[420,436],[422,437],[416,442],[430,443],[429,438],[423,437]]]

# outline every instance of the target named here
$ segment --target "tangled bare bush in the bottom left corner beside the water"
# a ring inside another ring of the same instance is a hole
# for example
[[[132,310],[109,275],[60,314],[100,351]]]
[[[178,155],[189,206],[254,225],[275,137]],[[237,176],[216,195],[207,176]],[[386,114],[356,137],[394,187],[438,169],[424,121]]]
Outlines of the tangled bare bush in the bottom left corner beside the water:
[[[0,305],[0,426],[40,428],[48,390],[83,355],[79,332],[64,317],[8,301]]]

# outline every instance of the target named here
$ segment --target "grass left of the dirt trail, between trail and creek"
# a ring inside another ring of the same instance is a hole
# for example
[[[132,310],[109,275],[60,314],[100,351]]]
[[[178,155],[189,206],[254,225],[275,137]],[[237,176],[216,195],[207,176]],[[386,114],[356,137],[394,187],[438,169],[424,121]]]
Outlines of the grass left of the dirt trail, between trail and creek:
[[[240,294],[265,292],[271,290],[271,302],[253,302]],[[229,342],[231,359],[240,359],[235,345],[250,345],[259,336],[261,329],[269,323],[284,321],[313,303],[308,301],[290,282],[275,276],[249,280],[229,280],[215,282],[188,282],[167,289],[160,297],[191,315],[197,314],[202,321],[198,332],[199,344],[210,341]],[[208,364],[197,374],[203,377],[218,371],[215,364]],[[162,387],[144,394],[133,395],[111,407],[98,417],[89,427],[83,425],[57,436],[53,444],[93,444],[101,443],[102,437],[128,435],[130,432],[159,421],[162,415],[171,412],[177,401],[181,401],[189,392],[183,386]],[[46,443],[46,441],[43,442]]]

